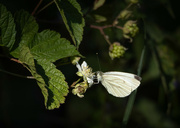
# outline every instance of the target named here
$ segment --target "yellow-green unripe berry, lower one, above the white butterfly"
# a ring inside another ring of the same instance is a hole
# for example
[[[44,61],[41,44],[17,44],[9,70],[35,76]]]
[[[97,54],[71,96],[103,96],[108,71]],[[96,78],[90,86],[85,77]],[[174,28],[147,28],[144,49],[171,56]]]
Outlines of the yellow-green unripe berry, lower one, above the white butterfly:
[[[109,47],[109,56],[113,60],[114,58],[119,58],[124,55],[126,48],[118,42],[114,42]]]

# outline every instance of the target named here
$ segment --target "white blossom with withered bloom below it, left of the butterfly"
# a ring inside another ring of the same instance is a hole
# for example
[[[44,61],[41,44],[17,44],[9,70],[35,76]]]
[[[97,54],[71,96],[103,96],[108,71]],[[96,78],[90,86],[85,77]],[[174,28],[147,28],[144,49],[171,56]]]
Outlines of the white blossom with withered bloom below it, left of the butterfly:
[[[76,67],[78,68],[78,72],[76,74],[80,77],[83,77],[83,82],[76,84],[74,86],[74,89],[72,90],[72,93],[82,98],[84,97],[83,94],[86,92],[87,88],[93,84],[93,73],[92,69],[87,65],[85,61],[83,61],[81,65],[76,62]]]

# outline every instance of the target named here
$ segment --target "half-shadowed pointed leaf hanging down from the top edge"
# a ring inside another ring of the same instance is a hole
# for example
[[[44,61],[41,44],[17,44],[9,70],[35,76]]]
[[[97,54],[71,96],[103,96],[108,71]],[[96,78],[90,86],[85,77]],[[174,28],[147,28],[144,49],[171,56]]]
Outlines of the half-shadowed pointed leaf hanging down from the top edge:
[[[83,27],[85,25],[80,5],[76,0],[54,0],[54,2],[61,13],[74,44],[78,48],[82,41]]]

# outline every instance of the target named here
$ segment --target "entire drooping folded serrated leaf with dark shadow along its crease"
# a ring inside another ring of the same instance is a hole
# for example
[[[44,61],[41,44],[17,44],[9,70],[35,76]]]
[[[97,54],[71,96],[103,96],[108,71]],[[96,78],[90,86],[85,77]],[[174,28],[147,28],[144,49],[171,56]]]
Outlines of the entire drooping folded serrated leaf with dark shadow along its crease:
[[[60,104],[65,101],[64,96],[69,92],[61,71],[46,59],[39,58],[34,61],[34,57],[27,46],[20,47],[19,60],[26,65],[36,79],[43,93],[46,108],[59,108]]]

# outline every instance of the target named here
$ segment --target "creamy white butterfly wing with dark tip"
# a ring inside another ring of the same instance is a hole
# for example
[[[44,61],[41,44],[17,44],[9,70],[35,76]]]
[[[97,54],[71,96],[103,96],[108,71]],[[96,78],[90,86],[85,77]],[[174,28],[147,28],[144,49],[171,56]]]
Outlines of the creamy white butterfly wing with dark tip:
[[[101,76],[102,85],[116,97],[128,96],[140,85],[140,80],[139,76],[124,72],[105,72]]]

